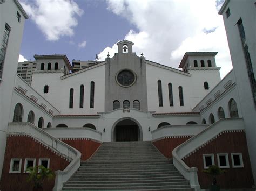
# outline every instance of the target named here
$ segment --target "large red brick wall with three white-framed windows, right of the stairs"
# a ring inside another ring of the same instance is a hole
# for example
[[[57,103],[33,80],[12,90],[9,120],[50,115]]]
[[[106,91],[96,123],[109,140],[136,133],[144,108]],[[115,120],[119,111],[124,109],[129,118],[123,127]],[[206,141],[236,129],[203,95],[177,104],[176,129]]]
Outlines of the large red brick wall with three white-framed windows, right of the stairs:
[[[184,159],[189,167],[198,168],[201,188],[208,188],[212,181],[210,176],[202,172],[204,169],[203,154],[214,154],[215,165],[218,165],[217,153],[227,153],[230,164],[230,168],[224,168],[227,172],[217,178],[220,188],[252,188],[254,183],[245,132],[223,133]],[[231,153],[242,153],[244,168],[232,167]]]

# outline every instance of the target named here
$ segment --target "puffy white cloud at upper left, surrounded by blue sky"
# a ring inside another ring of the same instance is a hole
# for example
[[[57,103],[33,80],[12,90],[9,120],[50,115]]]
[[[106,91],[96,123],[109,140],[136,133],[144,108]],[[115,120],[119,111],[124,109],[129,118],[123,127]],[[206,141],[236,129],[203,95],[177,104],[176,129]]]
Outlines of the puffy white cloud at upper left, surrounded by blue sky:
[[[73,27],[78,24],[76,16],[83,14],[83,10],[73,0],[36,0],[35,4],[23,0],[21,4],[50,41],[72,36]]]

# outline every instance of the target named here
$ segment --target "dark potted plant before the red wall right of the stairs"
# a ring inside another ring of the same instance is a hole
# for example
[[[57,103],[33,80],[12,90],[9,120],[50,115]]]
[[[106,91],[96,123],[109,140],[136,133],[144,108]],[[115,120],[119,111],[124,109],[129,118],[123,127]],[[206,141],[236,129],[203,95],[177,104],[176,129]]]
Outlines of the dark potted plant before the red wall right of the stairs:
[[[210,191],[219,191],[220,190],[220,186],[217,185],[216,176],[219,176],[219,175],[225,173],[226,171],[223,170],[223,169],[220,169],[216,165],[211,165],[211,166],[209,166],[208,169],[203,170],[203,172],[212,176],[212,180],[213,181],[212,181],[212,185],[210,186]]]

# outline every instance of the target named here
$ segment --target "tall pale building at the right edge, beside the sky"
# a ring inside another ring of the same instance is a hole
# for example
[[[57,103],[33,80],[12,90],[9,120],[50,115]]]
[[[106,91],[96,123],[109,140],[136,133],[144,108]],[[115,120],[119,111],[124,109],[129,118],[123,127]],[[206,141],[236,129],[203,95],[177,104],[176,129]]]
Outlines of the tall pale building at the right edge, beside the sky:
[[[256,14],[255,0],[226,0],[223,15],[242,117],[246,125],[254,180],[256,180]]]

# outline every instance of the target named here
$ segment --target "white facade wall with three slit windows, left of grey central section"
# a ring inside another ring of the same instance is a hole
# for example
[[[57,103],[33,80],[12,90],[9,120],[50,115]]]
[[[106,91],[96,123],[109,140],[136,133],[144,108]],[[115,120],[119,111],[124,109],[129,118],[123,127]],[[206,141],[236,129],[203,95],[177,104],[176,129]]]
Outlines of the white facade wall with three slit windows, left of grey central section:
[[[97,114],[104,111],[105,65],[86,68],[83,72],[63,76],[62,73],[35,73],[32,87],[46,100],[54,104],[62,115]],[[94,108],[90,108],[91,81],[95,82]],[[80,85],[84,85],[84,108],[79,108]],[[44,86],[49,93],[44,94]],[[69,108],[70,88],[74,89],[73,108]]]

